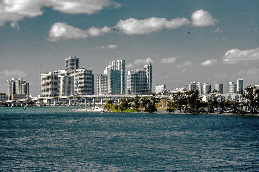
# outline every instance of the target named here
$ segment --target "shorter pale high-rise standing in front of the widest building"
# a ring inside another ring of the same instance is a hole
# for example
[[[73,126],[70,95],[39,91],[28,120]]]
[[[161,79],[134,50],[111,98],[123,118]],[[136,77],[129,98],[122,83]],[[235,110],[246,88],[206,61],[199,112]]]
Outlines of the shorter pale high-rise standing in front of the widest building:
[[[74,76],[58,75],[58,96],[75,95]]]

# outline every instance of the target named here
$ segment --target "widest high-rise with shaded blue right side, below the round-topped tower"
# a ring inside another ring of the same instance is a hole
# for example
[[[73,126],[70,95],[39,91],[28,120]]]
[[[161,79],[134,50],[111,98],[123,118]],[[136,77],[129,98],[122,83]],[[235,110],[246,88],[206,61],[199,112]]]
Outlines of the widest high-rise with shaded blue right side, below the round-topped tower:
[[[75,95],[92,95],[94,94],[93,80],[94,76],[92,70],[71,69],[71,70],[58,70],[54,74],[74,76]]]

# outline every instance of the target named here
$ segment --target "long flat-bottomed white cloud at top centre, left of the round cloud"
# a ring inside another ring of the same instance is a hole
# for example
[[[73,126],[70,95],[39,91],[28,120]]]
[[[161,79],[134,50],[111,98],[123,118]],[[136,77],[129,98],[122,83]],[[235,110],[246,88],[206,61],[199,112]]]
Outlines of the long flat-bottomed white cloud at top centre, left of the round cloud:
[[[167,20],[166,18],[151,17],[144,20],[138,20],[135,18],[128,18],[126,20],[120,20],[114,27],[119,31],[128,34],[148,34],[163,28],[176,29],[181,26],[188,25],[190,21],[186,18],[175,18]]]

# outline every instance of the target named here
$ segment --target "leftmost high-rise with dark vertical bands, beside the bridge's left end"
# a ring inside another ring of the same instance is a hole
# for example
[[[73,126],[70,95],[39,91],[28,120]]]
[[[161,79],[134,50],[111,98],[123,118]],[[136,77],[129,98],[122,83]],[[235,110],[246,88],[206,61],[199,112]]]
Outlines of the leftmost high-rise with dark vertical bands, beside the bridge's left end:
[[[23,78],[12,78],[7,80],[7,94],[26,94],[29,95],[29,83],[23,80]]]

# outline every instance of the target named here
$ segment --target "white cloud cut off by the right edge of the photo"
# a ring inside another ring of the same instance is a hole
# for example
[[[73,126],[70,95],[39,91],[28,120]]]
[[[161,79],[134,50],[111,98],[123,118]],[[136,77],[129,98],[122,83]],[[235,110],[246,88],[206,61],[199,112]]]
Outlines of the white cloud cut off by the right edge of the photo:
[[[230,64],[237,63],[238,61],[259,60],[259,47],[251,50],[228,50],[222,60]]]

